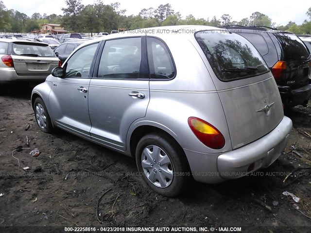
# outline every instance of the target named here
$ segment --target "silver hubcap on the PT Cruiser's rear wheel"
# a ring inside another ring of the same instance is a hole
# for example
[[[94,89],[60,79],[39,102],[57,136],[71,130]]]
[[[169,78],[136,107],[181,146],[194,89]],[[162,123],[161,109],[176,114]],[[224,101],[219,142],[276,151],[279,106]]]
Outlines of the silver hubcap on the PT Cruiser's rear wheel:
[[[160,188],[173,180],[173,166],[169,156],[159,147],[151,145],[142,151],[141,165],[148,180]]]

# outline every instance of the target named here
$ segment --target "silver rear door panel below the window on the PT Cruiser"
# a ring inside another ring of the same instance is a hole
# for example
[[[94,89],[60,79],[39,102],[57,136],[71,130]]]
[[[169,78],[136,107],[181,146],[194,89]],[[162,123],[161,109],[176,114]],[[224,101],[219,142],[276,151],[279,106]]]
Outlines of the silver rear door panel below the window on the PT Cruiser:
[[[145,97],[129,96],[134,92]],[[92,139],[125,151],[126,133],[135,120],[146,115],[148,103],[149,80],[92,79],[88,105]]]

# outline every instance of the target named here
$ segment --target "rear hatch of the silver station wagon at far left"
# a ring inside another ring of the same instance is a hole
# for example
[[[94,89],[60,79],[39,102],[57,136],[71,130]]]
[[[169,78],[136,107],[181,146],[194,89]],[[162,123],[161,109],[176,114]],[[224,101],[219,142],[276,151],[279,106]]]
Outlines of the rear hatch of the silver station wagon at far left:
[[[11,52],[18,75],[49,75],[58,59],[47,44],[15,42]]]

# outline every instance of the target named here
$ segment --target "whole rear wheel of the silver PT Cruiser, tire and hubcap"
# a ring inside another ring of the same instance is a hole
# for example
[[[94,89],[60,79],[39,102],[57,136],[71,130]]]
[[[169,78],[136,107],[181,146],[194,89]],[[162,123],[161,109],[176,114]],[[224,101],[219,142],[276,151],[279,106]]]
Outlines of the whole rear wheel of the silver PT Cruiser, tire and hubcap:
[[[163,196],[174,197],[190,185],[192,176],[186,155],[165,134],[150,133],[140,139],[136,164],[149,187]]]

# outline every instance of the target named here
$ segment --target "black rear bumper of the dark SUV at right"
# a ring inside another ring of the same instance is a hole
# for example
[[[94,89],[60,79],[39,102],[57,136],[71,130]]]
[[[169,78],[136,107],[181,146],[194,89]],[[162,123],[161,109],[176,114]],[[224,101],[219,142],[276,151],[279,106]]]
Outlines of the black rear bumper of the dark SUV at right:
[[[311,83],[291,89],[289,86],[278,86],[282,102],[287,107],[294,107],[299,104],[307,104],[311,98]]]

